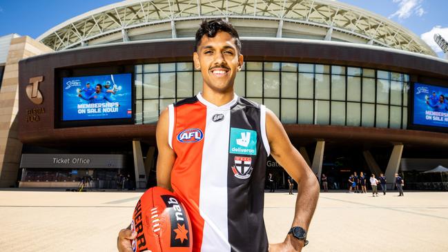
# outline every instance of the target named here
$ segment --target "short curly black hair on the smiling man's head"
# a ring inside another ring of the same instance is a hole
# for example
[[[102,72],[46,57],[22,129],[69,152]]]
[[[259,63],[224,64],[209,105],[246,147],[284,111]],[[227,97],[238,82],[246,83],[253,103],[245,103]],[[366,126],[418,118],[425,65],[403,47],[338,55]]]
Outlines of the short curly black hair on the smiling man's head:
[[[201,26],[196,32],[196,41],[195,41],[195,52],[197,52],[197,47],[201,43],[202,37],[206,35],[207,37],[215,37],[217,32],[223,31],[230,34],[233,39],[235,39],[235,45],[237,46],[238,54],[241,53],[241,41],[240,36],[238,36],[237,30],[233,28],[231,23],[223,19],[213,19],[211,21],[202,21]]]

